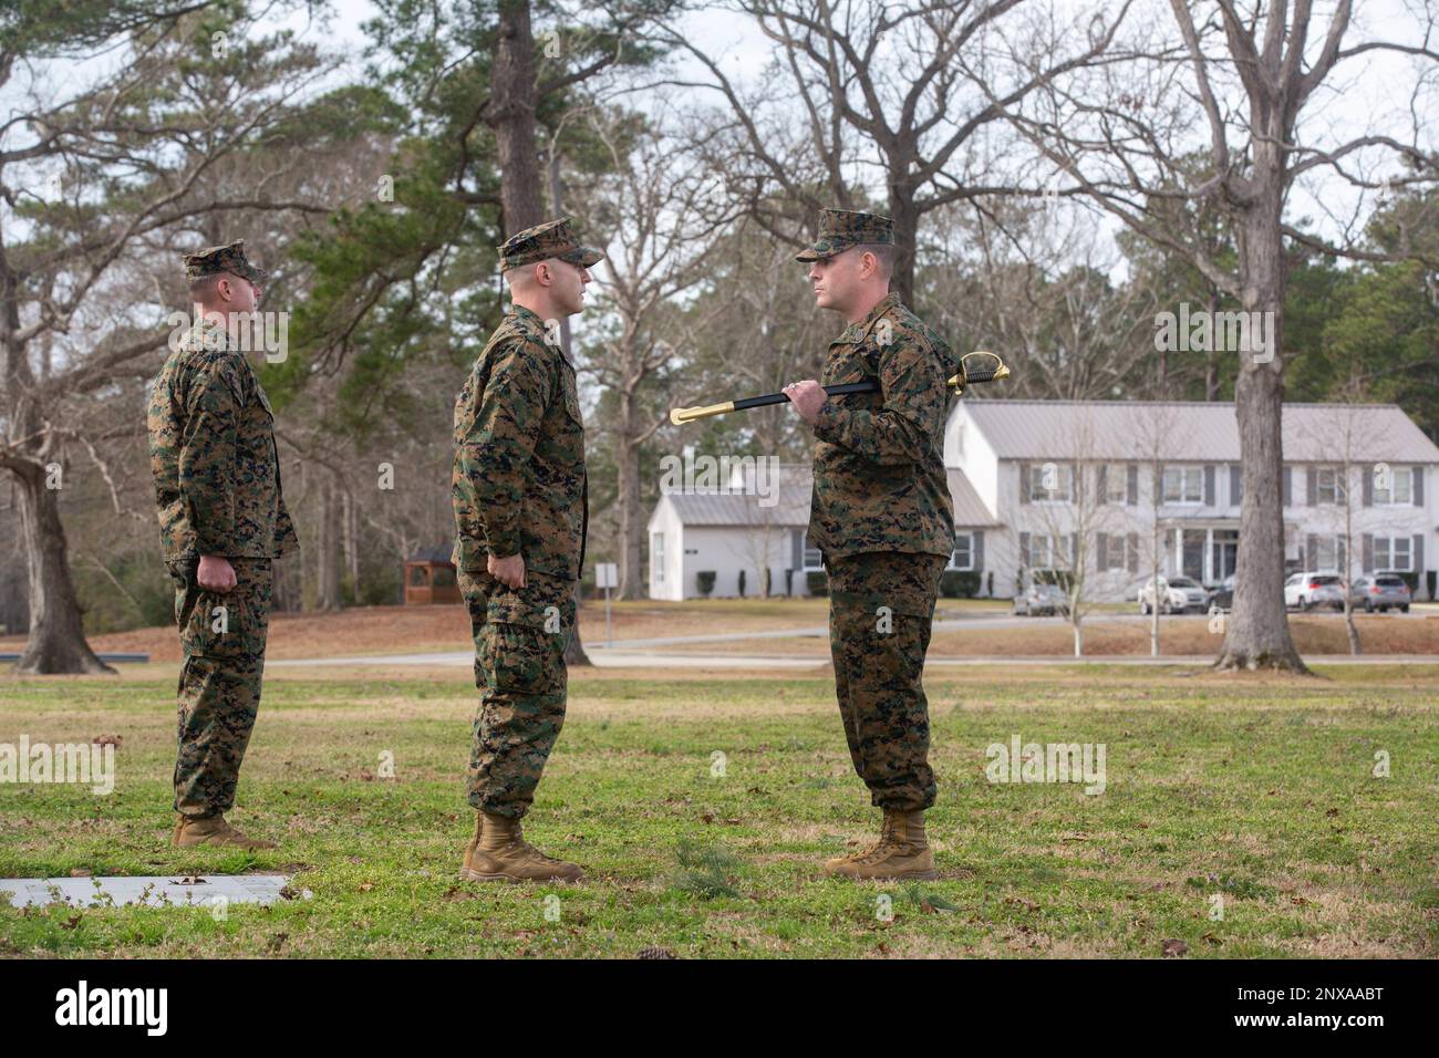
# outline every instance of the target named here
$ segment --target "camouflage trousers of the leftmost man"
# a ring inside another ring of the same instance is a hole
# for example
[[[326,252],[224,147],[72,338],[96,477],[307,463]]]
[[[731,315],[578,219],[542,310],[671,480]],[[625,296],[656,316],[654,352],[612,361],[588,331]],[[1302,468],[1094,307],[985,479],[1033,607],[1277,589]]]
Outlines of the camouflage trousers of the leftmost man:
[[[170,567],[184,651],[174,803],[180,815],[209,816],[235,808],[260,707],[273,582],[269,559],[230,559],[236,584],[222,594],[200,587],[196,564]]]

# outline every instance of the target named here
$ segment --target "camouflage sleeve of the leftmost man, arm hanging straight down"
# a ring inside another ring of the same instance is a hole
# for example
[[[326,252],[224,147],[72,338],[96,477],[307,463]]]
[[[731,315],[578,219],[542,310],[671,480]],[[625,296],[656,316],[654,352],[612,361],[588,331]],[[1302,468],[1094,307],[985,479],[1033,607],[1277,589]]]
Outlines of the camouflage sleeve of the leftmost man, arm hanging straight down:
[[[229,554],[235,543],[236,433],[243,383],[226,358],[196,366],[180,438],[180,495],[200,554]]]

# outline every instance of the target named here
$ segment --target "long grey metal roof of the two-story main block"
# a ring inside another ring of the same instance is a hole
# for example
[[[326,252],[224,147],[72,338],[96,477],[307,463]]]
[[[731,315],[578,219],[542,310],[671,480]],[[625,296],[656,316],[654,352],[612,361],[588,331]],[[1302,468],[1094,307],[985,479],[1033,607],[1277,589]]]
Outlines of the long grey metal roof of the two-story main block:
[[[954,415],[968,416],[1000,459],[1153,459],[1157,452],[1174,462],[1239,462],[1233,403],[964,400]],[[1344,461],[1347,448],[1350,461],[1439,464],[1439,446],[1397,404],[1285,404],[1282,422],[1288,462]]]

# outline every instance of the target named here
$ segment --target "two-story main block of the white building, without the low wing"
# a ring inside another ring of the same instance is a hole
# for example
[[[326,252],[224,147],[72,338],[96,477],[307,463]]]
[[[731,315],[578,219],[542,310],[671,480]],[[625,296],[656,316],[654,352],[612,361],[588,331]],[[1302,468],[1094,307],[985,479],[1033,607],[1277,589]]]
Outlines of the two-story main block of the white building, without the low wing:
[[[1392,404],[1286,404],[1282,428],[1286,566],[1415,573],[1427,597],[1439,448]],[[1233,404],[961,400],[944,456],[1002,525],[957,525],[983,534],[996,594],[1033,570],[1081,567],[1091,597],[1132,597],[1156,556],[1209,586],[1235,571]]]

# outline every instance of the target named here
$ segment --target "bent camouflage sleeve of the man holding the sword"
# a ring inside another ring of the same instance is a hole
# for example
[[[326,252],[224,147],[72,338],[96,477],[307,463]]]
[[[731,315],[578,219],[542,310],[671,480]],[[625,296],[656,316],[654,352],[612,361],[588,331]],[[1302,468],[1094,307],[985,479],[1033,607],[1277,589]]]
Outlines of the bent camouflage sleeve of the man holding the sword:
[[[878,412],[820,404],[814,436],[846,448],[869,462],[894,466],[920,462],[931,438],[944,430],[948,390],[945,357],[917,335],[895,335],[879,354]]]

